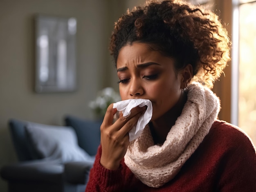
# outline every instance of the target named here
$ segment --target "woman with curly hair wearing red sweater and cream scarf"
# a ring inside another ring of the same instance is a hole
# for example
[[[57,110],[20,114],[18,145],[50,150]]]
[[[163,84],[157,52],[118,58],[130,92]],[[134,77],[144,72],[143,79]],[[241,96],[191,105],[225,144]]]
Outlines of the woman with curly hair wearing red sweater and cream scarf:
[[[146,107],[113,123],[108,107],[86,191],[256,191],[256,153],[238,127],[219,121],[209,88],[229,61],[218,17],[185,2],[147,2],[115,23],[110,51],[122,100],[143,98],[153,116],[128,132]]]

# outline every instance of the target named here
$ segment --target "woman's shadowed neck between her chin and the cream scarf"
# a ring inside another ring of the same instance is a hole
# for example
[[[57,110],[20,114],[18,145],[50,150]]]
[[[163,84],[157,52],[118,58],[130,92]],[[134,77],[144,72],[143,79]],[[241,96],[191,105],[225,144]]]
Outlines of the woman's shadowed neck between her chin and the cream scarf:
[[[180,99],[174,107],[172,107],[166,114],[161,116],[155,121],[150,123],[150,130],[153,136],[155,144],[163,144],[166,140],[166,136],[171,127],[175,124],[175,121],[182,113],[182,109],[187,100],[187,93],[183,92]]]

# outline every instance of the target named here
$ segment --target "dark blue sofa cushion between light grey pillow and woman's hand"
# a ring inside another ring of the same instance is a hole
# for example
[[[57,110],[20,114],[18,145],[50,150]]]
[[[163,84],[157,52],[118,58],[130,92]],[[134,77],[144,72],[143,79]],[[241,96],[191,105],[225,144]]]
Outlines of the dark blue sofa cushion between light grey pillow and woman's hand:
[[[90,121],[66,116],[65,123],[72,126],[77,134],[78,144],[88,154],[95,155],[101,141],[100,126],[102,121]]]

